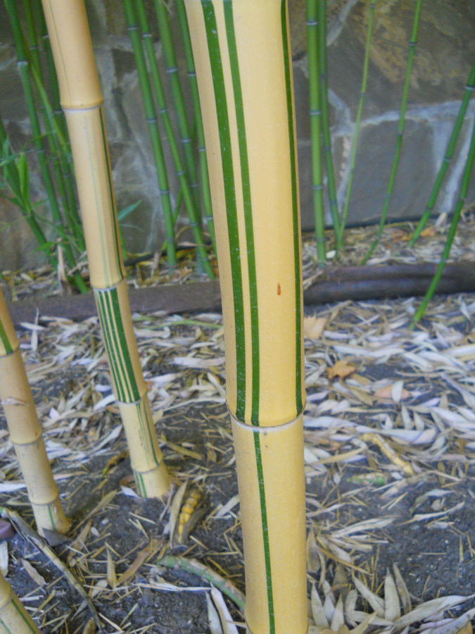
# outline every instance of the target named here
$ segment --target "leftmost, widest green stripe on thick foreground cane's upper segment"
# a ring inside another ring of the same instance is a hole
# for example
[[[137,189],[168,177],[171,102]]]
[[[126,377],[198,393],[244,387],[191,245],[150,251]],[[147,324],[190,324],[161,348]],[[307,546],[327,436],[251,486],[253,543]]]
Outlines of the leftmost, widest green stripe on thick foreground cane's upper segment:
[[[226,216],[228,228],[229,249],[233,254],[239,254],[239,230],[236,209],[236,192],[234,191],[234,167],[231,151],[231,136],[229,133],[229,118],[227,114],[227,98],[224,87],[224,75],[220,53],[220,42],[217,39],[217,25],[215,10],[211,0],[202,0],[203,16],[205,20],[208,50],[213,68],[213,88],[215,91],[217,121],[220,133],[221,160],[224,177],[224,197],[226,198]],[[232,289],[234,298],[234,318],[236,328],[236,418],[243,420],[246,414],[246,353],[243,346],[244,333],[244,304],[243,283],[241,277],[241,262],[239,257],[231,258]]]

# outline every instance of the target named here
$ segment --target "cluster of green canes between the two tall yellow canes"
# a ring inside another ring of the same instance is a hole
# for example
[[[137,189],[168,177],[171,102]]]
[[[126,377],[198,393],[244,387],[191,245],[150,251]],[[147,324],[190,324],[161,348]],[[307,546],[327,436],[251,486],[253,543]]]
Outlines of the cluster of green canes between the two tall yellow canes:
[[[155,51],[153,49],[151,30],[148,24],[144,2],[143,0],[138,0],[137,3],[134,4],[131,2],[131,0],[124,0],[124,8],[125,17],[127,20],[127,27],[129,30],[132,48],[134,50],[135,61],[137,64],[137,70],[139,73],[139,83],[141,87],[142,97],[144,99],[144,107],[146,111],[148,130],[151,137],[153,156],[156,162],[157,177],[160,187],[160,198],[163,205],[163,214],[165,220],[165,247],[167,250],[168,264],[170,268],[175,268],[176,266],[175,220],[178,212],[178,206],[176,213],[174,214],[172,211],[167,167],[163,154],[162,142],[160,139],[160,130],[158,128],[158,118],[156,116],[154,97],[158,106],[158,111],[160,113],[160,120],[163,123],[167,142],[170,147],[170,152],[172,154],[172,160],[180,184],[180,191],[183,196],[186,211],[189,216],[191,230],[194,233],[194,239],[196,241],[196,253],[198,256],[198,265],[200,266],[201,270],[208,273],[208,276],[210,278],[214,278],[213,269],[210,266],[205,246],[203,244],[203,231],[201,229],[200,222],[199,191],[197,183],[196,187],[194,187],[193,174],[191,175],[191,178],[189,176],[190,157],[188,147],[190,150],[192,150],[191,139],[190,143],[188,143],[185,139],[185,142],[182,144],[185,157],[183,161],[182,154],[179,151],[177,140],[175,139],[175,132],[170,120],[170,114],[168,113],[167,109],[165,91],[163,89],[163,82],[160,77]],[[162,26],[165,22],[165,19],[166,18],[164,18],[162,15]],[[166,32],[165,27],[164,30]],[[171,43],[171,37],[165,36],[165,39],[167,39],[167,44]],[[150,77],[148,75],[148,72],[150,73]],[[175,73],[172,73],[172,75],[175,75]],[[179,94],[181,95],[181,89]],[[182,96],[181,103],[183,104]],[[183,108],[179,109],[177,113],[179,113],[178,116],[179,118],[181,118],[182,114],[184,113],[184,106]],[[187,156],[188,159],[186,158]],[[191,159],[193,159],[192,154]],[[193,170],[194,175],[196,176],[194,161]]]

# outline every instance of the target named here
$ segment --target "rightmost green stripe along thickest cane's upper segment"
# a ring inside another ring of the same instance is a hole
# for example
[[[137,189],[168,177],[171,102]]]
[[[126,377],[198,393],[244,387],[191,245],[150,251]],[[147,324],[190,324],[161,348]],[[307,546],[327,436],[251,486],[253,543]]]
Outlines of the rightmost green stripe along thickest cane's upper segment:
[[[289,151],[291,159],[292,182],[292,223],[293,223],[293,266],[295,276],[296,294],[296,412],[303,410],[303,337],[302,337],[302,269],[300,254],[300,211],[298,206],[298,174],[296,159],[296,132],[295,119],[293,117],[293,86],[291,79],[291,53],[289,42],[289,15],[286,0],[281,0],[281,29],[282,47],[284,49],[284,70],[286,78],[287,123],[289,126]]]

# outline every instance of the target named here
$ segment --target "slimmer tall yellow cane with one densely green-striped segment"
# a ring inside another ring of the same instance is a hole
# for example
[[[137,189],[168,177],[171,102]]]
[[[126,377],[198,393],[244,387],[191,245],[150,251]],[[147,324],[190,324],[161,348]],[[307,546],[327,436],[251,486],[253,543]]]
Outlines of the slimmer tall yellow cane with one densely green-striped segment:
[[[61,106],[75,165],[91,286],[108,354],[137,489],[163,495],[169,479],[141,371],[130,316],[110,159],[89,25],[83,0],[43,0]]]

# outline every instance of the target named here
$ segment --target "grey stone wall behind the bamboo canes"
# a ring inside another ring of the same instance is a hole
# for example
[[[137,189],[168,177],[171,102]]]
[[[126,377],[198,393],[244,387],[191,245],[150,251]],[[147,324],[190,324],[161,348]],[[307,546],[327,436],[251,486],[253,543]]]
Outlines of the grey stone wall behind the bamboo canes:
[[[125,237],[132,251],[157,249],[163,242],[163,223],[155,166],[148,141],[132,48],[120,0],[87,0],[91,34],[106,102],[106,123],[118,208],[141,200],[127,218]],[[147,1],[153,20],[153,3]],[[170,2],[172,9],[173,3]],[[296,91],[300,199],[303,228],[312,228],[310,182],[310,121],[308,63],[305,37],[305,0],[289,0],[293,70]],[[365,54],[367,0],[328,0],[329,101],[335,172],[340,206],[348,183],[355,115]],[[349,223],[377,220],[384,204],[395,150],[414,0],[376,1],[374,37],[367,95],[360,130]],[[177,30],[175,20],[172,26]],[[424,0],[419,41],[414,56],[403,151],[391,201],[391,218],[417,218],[424,211],[433,180],[441,165],[471,63],[475,57],[473,0]],[[154,35],[158,35],[157,32]],[[156,52],[161,61],[160,43]],[[179,70],[185,77],[184,61]],[[0,113],[15,149],[29,139],[23,89],[16,68],[8,19],[0,5]],[[186,80],[184,80],[186,92]],[[457,199],[467,155],[475,99],[469,106],[457,151],[452,159],[437,213],[450,212]],[[170,189],[177,182],[170,161]],[[32,163],[32,188],[44,199]],[[475,199],[472,175],[468,202]],[[327,221],[331,218],[327,212]],[[29,230],[11,204],[0,199],[0,267],[32,266],[41,259]]]

